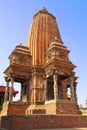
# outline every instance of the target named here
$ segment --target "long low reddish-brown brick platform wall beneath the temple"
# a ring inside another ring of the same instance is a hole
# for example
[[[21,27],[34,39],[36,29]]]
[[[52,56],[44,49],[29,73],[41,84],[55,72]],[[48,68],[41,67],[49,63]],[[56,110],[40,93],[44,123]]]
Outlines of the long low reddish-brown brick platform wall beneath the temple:
[[[12,115],[2,117],[1,127],[8,130],[87,127],[87,116],[67,115]]]

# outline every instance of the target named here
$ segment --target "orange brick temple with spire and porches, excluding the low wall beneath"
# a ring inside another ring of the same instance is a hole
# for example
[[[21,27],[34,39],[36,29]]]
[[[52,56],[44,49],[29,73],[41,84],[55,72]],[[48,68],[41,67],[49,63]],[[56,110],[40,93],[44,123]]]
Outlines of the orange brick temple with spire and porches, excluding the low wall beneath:
[[[16,46],[9,60],[4,72],[7,89],[2,113],[81,114],[77,105],[76,66],[69,60],[69,50],[62,42],[56,17],[45,8],[34,15],[26,46]],[[15,103],[14,82],[21,84],[20,102]]]

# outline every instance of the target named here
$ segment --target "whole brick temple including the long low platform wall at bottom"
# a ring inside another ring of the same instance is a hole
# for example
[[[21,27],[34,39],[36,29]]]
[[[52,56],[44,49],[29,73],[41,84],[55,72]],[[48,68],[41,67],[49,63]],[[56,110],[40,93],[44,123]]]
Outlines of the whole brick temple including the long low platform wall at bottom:
[[[26,45],[16,46],[9,56],[0,129],[87,127],[87,116],[81,115],[77,103],[78,77],[69,52],[56,17],[41,9],[33,17]],[[16,102],[14,83],[21,86]]]

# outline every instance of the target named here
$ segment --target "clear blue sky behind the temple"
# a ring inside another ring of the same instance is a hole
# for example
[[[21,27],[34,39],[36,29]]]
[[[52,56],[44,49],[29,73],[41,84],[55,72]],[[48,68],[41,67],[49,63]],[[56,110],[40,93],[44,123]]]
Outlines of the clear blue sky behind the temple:
[[[33,15],[46,7],[56,16],[62,41],[70,60],[77,66],[78,104],[87,99],[87,0],[0,0],[0,84],[5,85],[4,70],[16,45],[26,44]],[[15,89],[19,87],[15,85]]]

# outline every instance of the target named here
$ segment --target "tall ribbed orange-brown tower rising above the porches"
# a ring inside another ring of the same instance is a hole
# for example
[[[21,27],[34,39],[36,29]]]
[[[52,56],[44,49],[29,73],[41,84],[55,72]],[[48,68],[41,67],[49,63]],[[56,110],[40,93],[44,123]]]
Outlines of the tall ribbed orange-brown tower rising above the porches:
[[[56,18],[43,8],[34,15],[26,42],[33,66],[45,65],[45,52],[55,37],[62,43]]]

